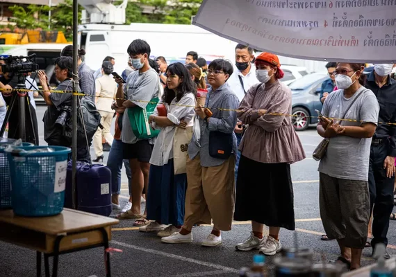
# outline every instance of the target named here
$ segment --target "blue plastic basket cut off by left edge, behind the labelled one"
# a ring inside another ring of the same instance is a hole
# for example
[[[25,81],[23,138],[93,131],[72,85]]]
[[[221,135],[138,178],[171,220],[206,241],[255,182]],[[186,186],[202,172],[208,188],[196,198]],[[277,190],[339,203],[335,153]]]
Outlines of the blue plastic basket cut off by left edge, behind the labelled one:
[[[0,208],[12,208],[11,206],[11,182],[8,158],[4,150],[10,144],[15,143],[15,139],[0,138]],[[33,146],[32,143],[22,143],[22,146]]]

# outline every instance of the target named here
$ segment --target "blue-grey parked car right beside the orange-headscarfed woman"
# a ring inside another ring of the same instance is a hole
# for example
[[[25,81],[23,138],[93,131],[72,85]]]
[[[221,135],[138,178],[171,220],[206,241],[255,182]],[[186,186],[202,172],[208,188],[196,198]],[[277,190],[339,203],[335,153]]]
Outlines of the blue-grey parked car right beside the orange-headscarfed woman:
[[[292,124],[296,131],[304,131],[310,124],[317,123],[315,109],[322,110],[319,100],[322,83],[329,79],[327,72],[317,72],[302,76],[289,84],[292,90]]]

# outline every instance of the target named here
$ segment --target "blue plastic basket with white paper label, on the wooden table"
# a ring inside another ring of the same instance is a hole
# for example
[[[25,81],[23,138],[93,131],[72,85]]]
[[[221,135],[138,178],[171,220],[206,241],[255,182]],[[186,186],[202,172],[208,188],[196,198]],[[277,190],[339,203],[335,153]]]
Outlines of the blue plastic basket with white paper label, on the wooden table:
[[[67,154],[63,146],[20,147],[26,151],[52,148],[53,152],[8,152],[15,215],[42,217],[63,211]]]

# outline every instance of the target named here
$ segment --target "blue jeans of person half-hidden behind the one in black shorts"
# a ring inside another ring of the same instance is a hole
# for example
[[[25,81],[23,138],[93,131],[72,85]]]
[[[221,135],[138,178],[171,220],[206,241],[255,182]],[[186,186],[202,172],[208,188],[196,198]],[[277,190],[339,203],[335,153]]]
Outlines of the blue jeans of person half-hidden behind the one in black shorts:
[[[122,141],[115,139],[108,153],[107,167],[111,170],[111,194],[119,195],[121,190],[121,170],[124,161],[126,177],[128,177],[129,195],[132,193],[132,172],[129,160],[122,159]]]

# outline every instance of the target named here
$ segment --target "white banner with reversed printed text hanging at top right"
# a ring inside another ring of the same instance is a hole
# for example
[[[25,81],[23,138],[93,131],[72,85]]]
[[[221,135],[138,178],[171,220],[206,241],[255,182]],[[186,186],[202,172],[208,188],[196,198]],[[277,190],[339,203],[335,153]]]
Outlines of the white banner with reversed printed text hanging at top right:
[[[396,0],[204,0],[193,24],[288,57],[396,62]]]

